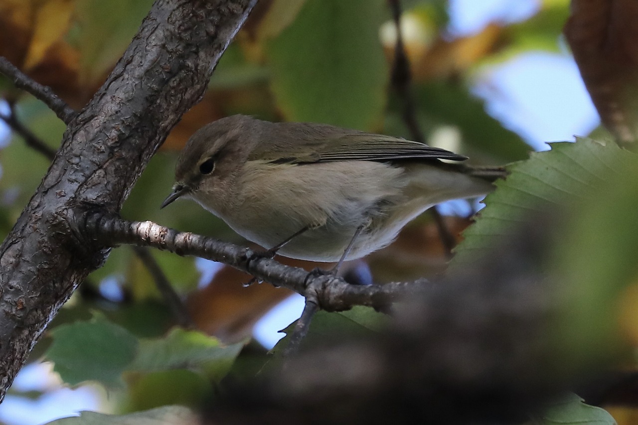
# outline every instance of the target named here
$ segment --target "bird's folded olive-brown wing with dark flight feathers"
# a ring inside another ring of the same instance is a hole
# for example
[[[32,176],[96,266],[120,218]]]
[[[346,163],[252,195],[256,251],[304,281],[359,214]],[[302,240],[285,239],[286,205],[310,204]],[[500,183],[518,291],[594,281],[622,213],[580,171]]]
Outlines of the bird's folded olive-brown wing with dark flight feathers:
[[[330,161],[390,161],[437,158],[462,161],[467,158],[420,142],[371,133],[324,135],[307,138],[305,143],[279,144],[273,154],[262,158],[272,163],[304,164]],[[276,154],[274,154],[276,152]]]

